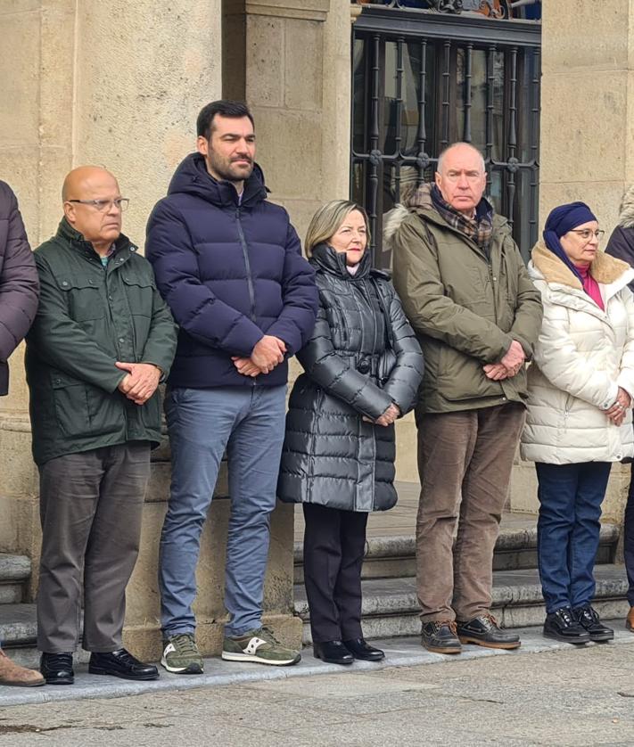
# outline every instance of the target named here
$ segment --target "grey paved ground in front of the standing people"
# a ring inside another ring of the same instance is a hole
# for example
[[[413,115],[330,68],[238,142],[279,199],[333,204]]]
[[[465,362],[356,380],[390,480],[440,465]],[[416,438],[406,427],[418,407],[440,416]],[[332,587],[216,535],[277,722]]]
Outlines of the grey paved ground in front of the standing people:
[[[409,666],[333,668],[307,656],[283,670],[243,665],[269,678],[232,685],[161,677],[169,689],[17,705],[0,711],[0,747],[634,744],[634,636],[583,650],[547,644],[536,630],[523,640],[518,653],[469,647],[450,658],[401,639],[386,642],[389,663]],[[89,677],[78,679],[58,690],[79,694]],[[0,689],[6,704],[9,688]]]

